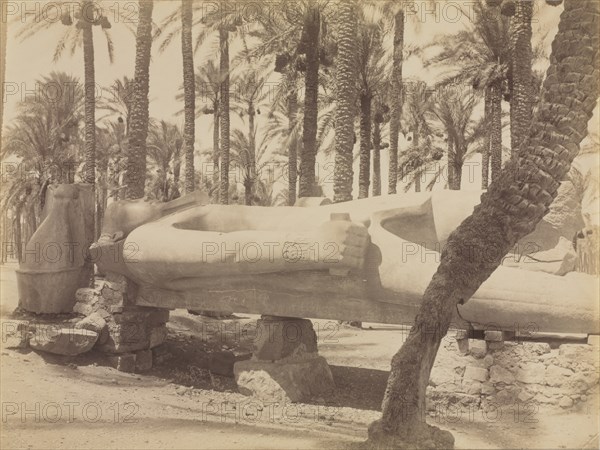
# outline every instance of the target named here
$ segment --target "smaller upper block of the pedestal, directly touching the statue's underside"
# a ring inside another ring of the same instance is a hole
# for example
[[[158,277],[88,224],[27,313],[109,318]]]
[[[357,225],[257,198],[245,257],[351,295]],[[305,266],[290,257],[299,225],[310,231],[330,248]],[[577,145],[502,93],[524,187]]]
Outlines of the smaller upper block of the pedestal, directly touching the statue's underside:
[[[307,319],[264,317],[257,321],[254,357],[277,361],[317,353],[317,335]]]

